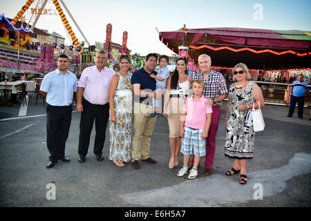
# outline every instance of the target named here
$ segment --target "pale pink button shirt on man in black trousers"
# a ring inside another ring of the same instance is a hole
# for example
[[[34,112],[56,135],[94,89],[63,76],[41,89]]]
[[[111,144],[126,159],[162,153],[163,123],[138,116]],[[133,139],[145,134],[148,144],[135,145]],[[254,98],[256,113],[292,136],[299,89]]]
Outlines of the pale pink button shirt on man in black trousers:
[[[85,68],[78,87],[84,88],[83,97],[91,104],[107,104],[109,102],[109,85],[115,71],[105,67],[99,71],[96,66]]]

